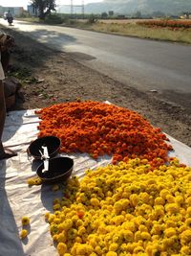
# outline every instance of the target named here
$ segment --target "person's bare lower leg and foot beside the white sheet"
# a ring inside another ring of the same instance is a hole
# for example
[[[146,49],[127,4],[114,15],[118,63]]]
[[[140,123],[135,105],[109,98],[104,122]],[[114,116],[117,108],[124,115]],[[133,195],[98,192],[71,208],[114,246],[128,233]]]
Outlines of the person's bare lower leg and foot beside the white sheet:
[[[2,135],[3,135],[5,119],[6,119],[6,104],[5,104],[5,97],[4,97],[4,85],[3,85],[3,82],[0,81],[0,160],[5,158],[10,158],[16,155],[14,151],[4,148],[2,144]]]

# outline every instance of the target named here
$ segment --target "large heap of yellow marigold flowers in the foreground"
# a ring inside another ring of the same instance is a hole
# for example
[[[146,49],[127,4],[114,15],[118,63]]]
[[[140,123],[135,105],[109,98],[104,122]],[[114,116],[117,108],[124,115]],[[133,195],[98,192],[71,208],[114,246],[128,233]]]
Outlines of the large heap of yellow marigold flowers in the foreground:
[[[47,213],[61,256],[191,255],[191,168],[146,159],[88,170]]]

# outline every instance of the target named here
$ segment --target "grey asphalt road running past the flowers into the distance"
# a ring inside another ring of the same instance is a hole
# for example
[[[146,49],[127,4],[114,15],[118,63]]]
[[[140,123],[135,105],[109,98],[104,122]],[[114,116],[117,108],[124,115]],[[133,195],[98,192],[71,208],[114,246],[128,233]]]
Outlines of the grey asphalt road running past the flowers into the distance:
[[[3,19],[0,22],[7,24]],[[191,99],[189,45],[23,21],[14,21],[12,29],[25,32],[53,49],[68,52],[83,64],[139,90],[175,92]]]

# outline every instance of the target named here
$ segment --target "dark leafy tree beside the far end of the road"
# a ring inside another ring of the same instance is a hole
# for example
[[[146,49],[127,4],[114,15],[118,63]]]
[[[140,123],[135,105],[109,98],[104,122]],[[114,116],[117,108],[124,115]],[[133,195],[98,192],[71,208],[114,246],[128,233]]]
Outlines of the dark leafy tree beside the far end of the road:
[[[32,6],[39,12],[39,18],[45,19],[52,11],[55,11],[55,0],[32,0]]]

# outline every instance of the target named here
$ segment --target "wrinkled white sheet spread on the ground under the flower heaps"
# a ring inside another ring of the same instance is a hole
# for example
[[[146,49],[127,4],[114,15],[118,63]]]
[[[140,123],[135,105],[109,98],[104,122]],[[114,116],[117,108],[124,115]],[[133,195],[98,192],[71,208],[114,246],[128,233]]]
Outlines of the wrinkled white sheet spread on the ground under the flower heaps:
[[[12,111],[6,120],[4,145],[17,151],[18,155],[0,161],[0,256],[47,256],[57,255],[44,214],[52,211],[53,192],[51,185],[29,187],[27,179],[35,175],[35,164],[28,159],[26,150],[36,139],[39,119],[34,110]],[[168,136],[174,148],[172,156],[191,166],[191,148]],[[63,154],[64,155],[64,154]],[[73,175],[83,176],[88,168],[111,162],[110,157],[93,160],[88,154],[70,154],[74,158]],[[28,239],[21,242],[21,218],[29,216],[31,226]]]

